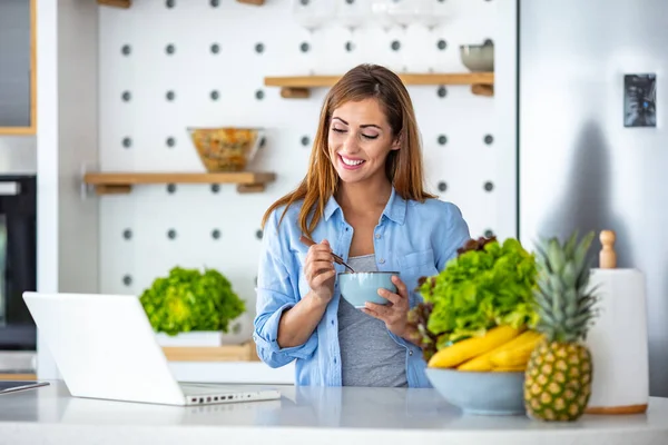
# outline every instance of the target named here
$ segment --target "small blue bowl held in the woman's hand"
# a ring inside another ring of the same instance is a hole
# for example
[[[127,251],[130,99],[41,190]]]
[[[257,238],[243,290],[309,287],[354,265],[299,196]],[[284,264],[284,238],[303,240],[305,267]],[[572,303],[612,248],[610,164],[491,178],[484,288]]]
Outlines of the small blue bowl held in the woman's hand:
[[[344,271],[338,274],[341,296],[347,303],[361,309],[366,301],[386,305],[389,301],[379,295],[379,288],[396,293],[392,276],[397,271]]]

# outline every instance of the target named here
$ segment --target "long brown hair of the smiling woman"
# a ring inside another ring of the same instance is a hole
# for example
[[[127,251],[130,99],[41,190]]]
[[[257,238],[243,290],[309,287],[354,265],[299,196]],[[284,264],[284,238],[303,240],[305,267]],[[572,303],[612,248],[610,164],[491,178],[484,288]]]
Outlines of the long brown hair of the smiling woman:
[[[311,150],[308,171],[299,186],[275,201],[264,214],[264,228],[274,209],[303,199],[298,225],[302,233],[311,236],[323,217],[325,205],[338,188],[338,174],[330,159],[327,134],[335,109],[348,101],[369,98],[379,100],[392,128],[393,138],[399,138],[401,148],[392,150],[385,162],[385,174],[396,194],[404,199],[424,201],[435,196],[424,190],[424,174],[420,135],[415,112],[409,91],[394,72],[376,65],[360,65],[346,72],[332,87],[321,109],[317,132]],[[285,210],[281,217],[285,216]],[[308,217],[312,215],[311,220]]]

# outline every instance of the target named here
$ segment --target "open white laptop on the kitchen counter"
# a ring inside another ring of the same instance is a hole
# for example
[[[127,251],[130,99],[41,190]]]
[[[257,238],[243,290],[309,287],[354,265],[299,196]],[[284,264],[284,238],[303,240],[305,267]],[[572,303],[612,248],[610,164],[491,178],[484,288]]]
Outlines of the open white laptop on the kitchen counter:
[[[166,405],[281,398],[259,385],[177,382],[136,296],[27,291],[23,300],[75,397]]]

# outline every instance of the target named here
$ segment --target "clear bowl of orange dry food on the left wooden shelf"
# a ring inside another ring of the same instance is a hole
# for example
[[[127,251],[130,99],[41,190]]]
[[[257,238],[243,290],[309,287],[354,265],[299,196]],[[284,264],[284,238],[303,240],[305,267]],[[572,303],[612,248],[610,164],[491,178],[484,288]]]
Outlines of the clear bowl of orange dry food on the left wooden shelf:
[[[243,171],[264,140],[262,128],[217,127],[187,129],[208,172]]]

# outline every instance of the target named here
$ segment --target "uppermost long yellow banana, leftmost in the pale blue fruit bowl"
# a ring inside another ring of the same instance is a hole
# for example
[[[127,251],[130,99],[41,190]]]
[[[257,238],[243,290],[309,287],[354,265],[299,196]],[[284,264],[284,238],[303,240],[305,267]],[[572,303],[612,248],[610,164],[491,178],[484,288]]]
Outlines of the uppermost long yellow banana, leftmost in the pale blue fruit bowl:
[[[434,368],[453,368],[462,363],[485,354],[510,342],[522,333],[511,326],[497,326],[482,337],[471,337],[440,349],[429,360],[428,366]]]

